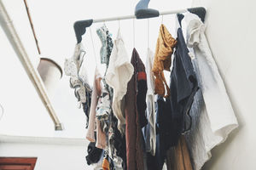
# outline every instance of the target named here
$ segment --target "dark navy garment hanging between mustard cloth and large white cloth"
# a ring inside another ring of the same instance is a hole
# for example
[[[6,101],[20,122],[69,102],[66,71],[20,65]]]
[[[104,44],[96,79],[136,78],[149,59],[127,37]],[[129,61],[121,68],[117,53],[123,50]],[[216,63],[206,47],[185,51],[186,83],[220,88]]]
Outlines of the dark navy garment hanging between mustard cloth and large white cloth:
[[[189,116],[189,111],[198,89],[195,71],[189,57],[189,49],[184,41],[182,29],[178,28],[177,48],[173,60],[170,84],[172,108],[172,129],[170,129],[170,132],[172,133],[172,138],[167,139],[172,145],[176,145],[181,133],[189,130],[191,126],[191,118],[189,118],[189,128],[185,123],[185,119],[187,118],[186,116]]]

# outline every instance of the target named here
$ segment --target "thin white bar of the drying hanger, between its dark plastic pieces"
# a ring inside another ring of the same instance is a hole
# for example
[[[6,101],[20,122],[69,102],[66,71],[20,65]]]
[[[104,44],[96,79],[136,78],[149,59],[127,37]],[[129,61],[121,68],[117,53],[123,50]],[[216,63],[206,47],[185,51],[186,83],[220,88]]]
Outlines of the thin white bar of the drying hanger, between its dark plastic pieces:
[[[160,12],[159,15],[165,15],[165,14],[177,14],[177,13],[184,13],[187,12],[188,9],[177,9],[177,10],[172,10],[172,11],[164,11]],[[104,18],[104,19],[96,19],[93,20],[93,23],[96,22],[104,22],[104,21],[112,21],[112,20],[129,20],[129,19],[135,19],[135,15],[125,15],[125,16],[118,16],[118,17],[111,17],[111,18]]]

